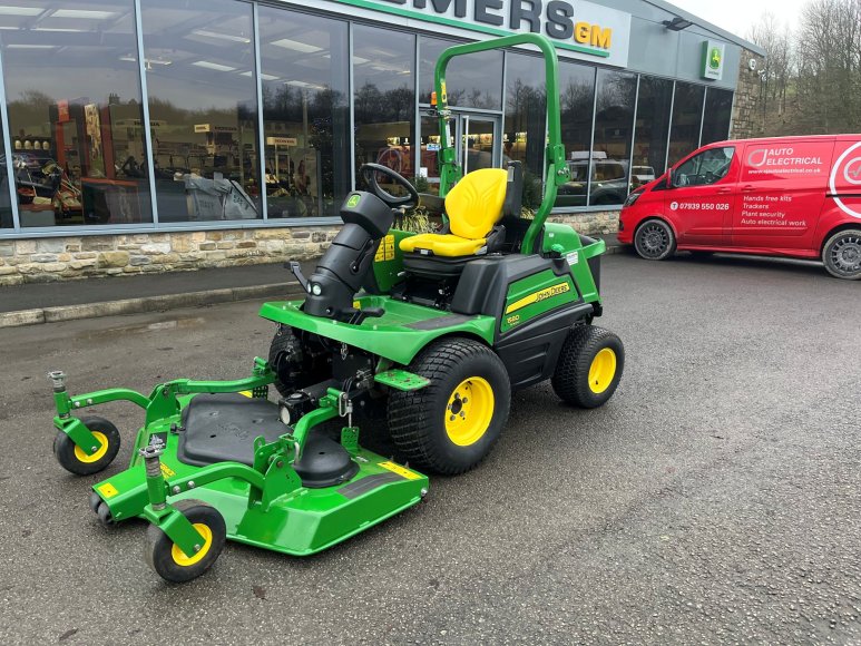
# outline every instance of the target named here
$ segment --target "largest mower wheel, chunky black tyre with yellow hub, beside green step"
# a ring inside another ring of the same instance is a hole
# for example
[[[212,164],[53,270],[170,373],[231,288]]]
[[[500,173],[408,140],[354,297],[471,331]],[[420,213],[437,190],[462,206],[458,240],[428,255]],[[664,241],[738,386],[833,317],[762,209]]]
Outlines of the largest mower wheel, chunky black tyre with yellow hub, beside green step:
[[[508,421],[511,382],[502,361],[477,341],[446,339],[422,350],[409,370],[431,383],[389,398],[389,432],[400,456],[433,473],[473,468]]]

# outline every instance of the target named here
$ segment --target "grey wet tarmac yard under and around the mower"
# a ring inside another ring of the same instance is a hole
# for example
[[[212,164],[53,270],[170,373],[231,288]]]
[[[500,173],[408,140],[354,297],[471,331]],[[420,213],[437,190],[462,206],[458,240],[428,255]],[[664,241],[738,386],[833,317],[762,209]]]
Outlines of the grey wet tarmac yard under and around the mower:
[[[519,392],[488,460],[422,505],[306,559],[228,544],[184,586],[56,463],[45,373],[242,376],[273,333],[257,303],[3,330],[0,643],[861,642],[861,285],[614,255],[603,295],[627,351],[606,407]],[[97,414],[124,437],[109,476],[143,419]]]

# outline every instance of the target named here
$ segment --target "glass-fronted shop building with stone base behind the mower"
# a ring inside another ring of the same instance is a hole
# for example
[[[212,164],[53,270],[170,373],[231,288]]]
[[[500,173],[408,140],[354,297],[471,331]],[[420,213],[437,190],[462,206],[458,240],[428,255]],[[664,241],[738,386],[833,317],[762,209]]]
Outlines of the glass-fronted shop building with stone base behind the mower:
[[[362,164],[434,190],[437,57],[517,31],[557,43],[573,179],[554,217],[584,232],[747,134],[762,51],[663,0],[8,0],[0,284],[315,255]],[[468,170],[520,159],[540,184],[541,65],[452,62]]]

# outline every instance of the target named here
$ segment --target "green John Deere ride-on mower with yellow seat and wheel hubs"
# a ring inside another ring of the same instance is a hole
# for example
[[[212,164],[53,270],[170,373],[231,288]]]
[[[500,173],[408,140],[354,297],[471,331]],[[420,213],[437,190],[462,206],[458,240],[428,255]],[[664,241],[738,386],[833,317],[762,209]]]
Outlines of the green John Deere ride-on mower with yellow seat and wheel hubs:
[[[521,217],[519,163],[461,177],[446,97],[453,57],[520,45],[538,47],[547,71],[546,182],[534,219]],[[146,411],[129,468],[96,483],[90,506],[106,525],[148,520],[146,557],[162,577],[199,576],[226,539],[304,556],[403,511],[428,492],[415,469],[454,474],[488,454],[516,389],[549,379],[574,405],[610,398],[623,345],[591,325],[601,314],[604,243],[546,223],[569,177],[557,65],[552,45],[537,35],[442,53],[440,197],[420,196],[387,167],[363,166],[369,192],[346,197],[344,226],[314,273],[305,278],[290,264],[305,298],[262,306],[277,332],[247,379],[71,397],[65,375],[50,374],[55,454],[72,473],[104,470],[120,442],[107,420],[75,413],[112,401]],[[395,215],[419,204],[440,212],[442,231],[393,231]],[[387,437],[403,463],[363,448],[360,421]]]

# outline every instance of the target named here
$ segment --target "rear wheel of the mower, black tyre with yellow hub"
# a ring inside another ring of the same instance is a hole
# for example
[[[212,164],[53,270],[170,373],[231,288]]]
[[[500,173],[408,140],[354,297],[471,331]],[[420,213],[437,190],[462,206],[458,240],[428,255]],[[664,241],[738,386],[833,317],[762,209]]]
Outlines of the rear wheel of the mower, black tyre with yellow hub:
[[[600,372],[590,375],[594,364]],[[550,384],[566,403],[594,409],[613,397],[624,369],[625,348],[618,336],[594,325],[577,325],[562,344]]]

